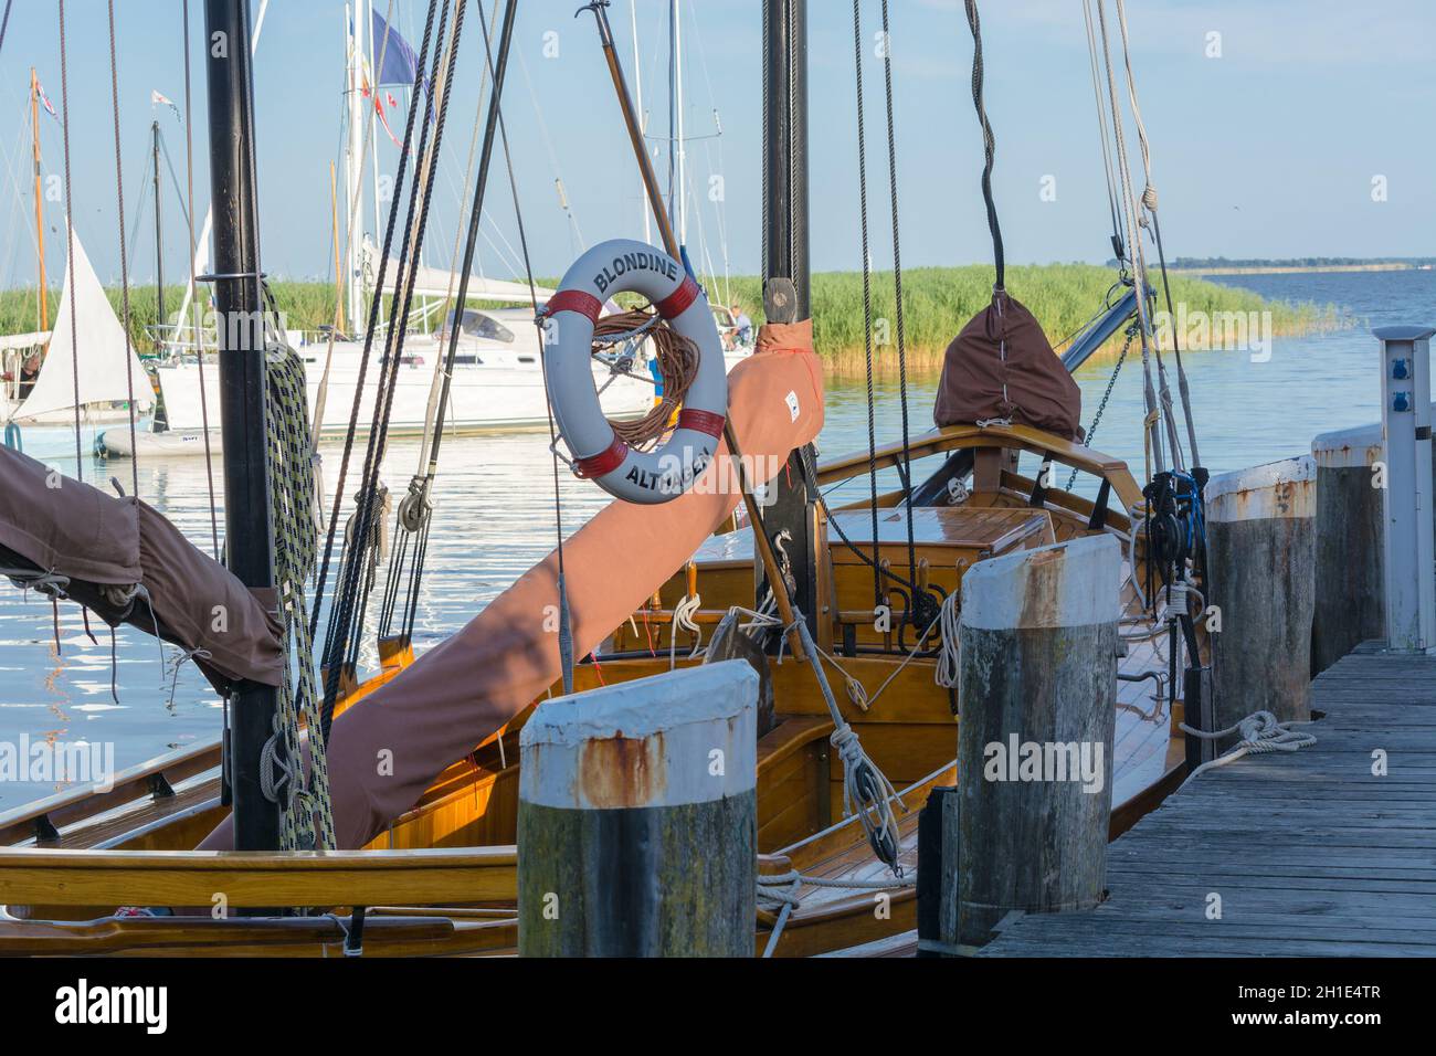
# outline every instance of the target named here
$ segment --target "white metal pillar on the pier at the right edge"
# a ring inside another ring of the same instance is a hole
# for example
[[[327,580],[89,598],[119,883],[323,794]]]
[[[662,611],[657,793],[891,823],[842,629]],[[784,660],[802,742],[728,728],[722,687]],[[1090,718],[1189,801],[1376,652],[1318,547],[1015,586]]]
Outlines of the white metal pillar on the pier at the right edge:
[[[1394,652],[1436,649],[1432,524],[1430,328],[1381,326],[1386,437],[1386,638]]]

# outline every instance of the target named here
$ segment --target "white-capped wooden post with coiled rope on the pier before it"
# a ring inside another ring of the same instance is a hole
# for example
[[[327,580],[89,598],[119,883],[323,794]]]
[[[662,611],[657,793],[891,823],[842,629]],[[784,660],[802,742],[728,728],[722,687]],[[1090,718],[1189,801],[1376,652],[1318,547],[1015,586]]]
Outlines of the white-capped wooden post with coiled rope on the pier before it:
[[[1311,717],[1315,513],[1310,455],[1223,473],[1206,484],[1218,730],[1254,711],[1271,711],[1282,723]]]

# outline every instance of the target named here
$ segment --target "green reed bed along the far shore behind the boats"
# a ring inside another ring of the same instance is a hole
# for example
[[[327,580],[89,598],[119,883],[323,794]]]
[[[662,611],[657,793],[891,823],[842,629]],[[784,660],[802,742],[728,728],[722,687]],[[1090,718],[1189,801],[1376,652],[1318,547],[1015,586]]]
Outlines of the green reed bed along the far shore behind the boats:
[[[546,277],[541,284],[554,286]],[[1037,316],[1054,345],[1078,332],[1101,307],[1111,289],[1110,269],[1094,264],[1021,264],[1007,269],[1007,287]],[[271,283],[274,299],[293,329],[317,329],[333,322],[335,289],[323,282]],[[116,315],[121,310],[118,289],[108,289]],[[727,295],[740,303],[755,323],[763,322],[761,282],[738,276],[709,284],[709,295]],[[184,286],[165,289],[165,310],[174,319]],[[915,267],[903,272],[905,336],[908,366],[935,371],[942,353],[962,325],[992,296],[992,269],[985,264],[962,267]],[[1277,336],[1300,336],[1351,325],[1351,319],[1331,305],[1267,300],[1249,290],[1206,282],[1188,274],[1172,276],[1172,299],[1190,315],[1206,312],[1271,312]],[[875,323],[875,368],[898,369],[898,320],[893,276],[879,272],[872,277],[872,316]],[[50,318],[59,309],[59,290],[50,295]],[[131,332],[136,348],[148,351],[145,328],[155,322],[154,286],[136,286],[129,293]],[[819,272],[813,276],[813,319],[819,352],[839,372],[866,368],[863,328],[863,277],[856,272]],[[352,323],[350,323],[352,325]],[[36,326],[34,289],[0,290],[0,332],[19,333]],[[1111,351],[1116,351],[1113,343]]]

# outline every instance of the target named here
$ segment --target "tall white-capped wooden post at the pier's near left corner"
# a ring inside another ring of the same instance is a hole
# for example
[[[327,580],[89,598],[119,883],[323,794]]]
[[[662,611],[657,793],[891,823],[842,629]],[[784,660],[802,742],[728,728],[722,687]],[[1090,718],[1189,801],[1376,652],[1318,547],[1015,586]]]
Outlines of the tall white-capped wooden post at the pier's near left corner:
[[[958,912],[981,945],[1012,909],[1101,901],[1111,820],[1122,549],[992,557],[962,579]]]

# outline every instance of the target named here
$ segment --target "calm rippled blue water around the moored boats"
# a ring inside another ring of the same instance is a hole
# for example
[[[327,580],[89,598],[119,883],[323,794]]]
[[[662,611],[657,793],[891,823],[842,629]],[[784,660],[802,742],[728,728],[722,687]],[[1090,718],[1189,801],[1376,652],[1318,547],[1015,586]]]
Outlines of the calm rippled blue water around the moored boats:
[[[1376,421],[1380,382],[1370,326],[1436,323],[1433,272],[1235,276],[1221,282],[1271,297],[1335,303],[1357,318],[1358,325],[1310,338],[1278,338],[1268,362],[1252,362],[1248,351],[1193,352],[1186,358],[1200,454],[1213,471],[1300,454],[1317,432]],[[1110,374],[1111,363],[1096,363],[1078,374],[1084,425],[1090,424]],[[1140,376],[1140,362],[1133,355],[1094,437],[1097,448],[1126,458],[1139,476]],[[915,435],[932,425],[935,384],[935,378],[922,378],[910,385],[909,418]],[[1172,385],[1175,389],[1175,376]],[[883,381],[877,395],[877,435],[879,443],[885,443],[899,435],[896,382]],[[89,440],[86,435],[86,450]],[[27,430],[24,443],[29,454],[73,474],[73,434]],[[864,448],[866,443],[862,382],[830,385],[821,454],[844,454]],[[325,447],[323,454],[333,474],[339,448]],[[385,480],[392,490],[404,491],[416,460],[415,441],[392,445],[385,464]],[[86,458],[83,476],[92,483],[115,476],[129,490],[128,463]],[[895,487],[896,480],[883,484]],[[333,487],[332,476],[329,487]],[[596,487],[567,473],[560,487],[566,532],[579,527],[605,503]],[[866,478],[859,478],[846,490],[856,497],[866,487]],[[202,460],[142,460],[139,493],[191,540],[205,549],[210,546]],[[447,441],[416,648],[431,648],[471,619],[553,543],[547,437],[516,434]],[[369,625],[375,622],[370,618]],[[59,738],[113,744],[115,766],[123,769],[217,736],[220,703],[194,667],[187,665],[172,681],[172,668],[161,659],[155,641],[129,628],[115,632],[116,703],[111,695],[109,632],[99,621],[92,621],[92,626],[98,644],[85,635],[78,606],[62,605],[56,651],[50,605],[34,595],[26,598],[7,583],[0,586],[0,744],[16,744],[22,736],[32,743]],[[174,649],[167,647],[167,652]],[[47,782],[0,780],[0,812],[62,787]]]

